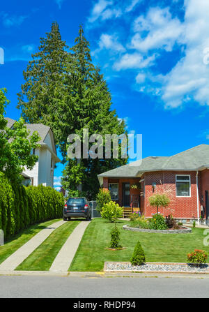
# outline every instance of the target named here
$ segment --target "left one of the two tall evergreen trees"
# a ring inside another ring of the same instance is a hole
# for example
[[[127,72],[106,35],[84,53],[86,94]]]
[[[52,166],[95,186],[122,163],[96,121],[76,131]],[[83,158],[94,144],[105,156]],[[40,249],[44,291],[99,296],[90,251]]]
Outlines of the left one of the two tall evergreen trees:
[[[52,22],[46,38],[40,38],[38,49],[23,72],[25,83],[22,84],[22,92],[17,94],[17,107],[22,109],[26,122],[50,126],[58,144],[62,139],[64,78],[69,55],[56,22]]]

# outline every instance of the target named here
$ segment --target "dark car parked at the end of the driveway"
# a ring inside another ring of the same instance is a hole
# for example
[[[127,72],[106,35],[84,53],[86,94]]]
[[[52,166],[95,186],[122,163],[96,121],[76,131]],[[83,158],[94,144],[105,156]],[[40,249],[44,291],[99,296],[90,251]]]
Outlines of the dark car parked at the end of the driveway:
[[[68,198],[63,209],[63,220],[70,220],[70,218],[91,220],[91,207],[86,198]]]

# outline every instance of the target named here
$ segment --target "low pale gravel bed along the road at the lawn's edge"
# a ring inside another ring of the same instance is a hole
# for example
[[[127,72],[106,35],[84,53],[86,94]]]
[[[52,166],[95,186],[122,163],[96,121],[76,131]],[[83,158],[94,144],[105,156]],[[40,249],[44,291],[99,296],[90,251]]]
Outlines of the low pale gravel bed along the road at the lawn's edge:
[[[171,262],[146,262],[144,265],[131,265],[130,262],[104,262],[104,272],[173,272],[208,274],[209,265]]]

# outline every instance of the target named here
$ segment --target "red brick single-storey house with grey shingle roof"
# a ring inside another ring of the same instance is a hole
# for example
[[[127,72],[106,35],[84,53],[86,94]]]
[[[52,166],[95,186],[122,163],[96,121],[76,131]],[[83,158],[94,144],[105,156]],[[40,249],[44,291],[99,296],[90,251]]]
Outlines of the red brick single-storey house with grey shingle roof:
[[[169,207],[159,212],[175,218],[204,219],[209,216],[209,145],[201,144],[171,157],[147,157],[98,175],[112,200],[123,207],[140,207],[144,216],[156,213],[148,198],[167,193]],[[137,187],[137,188],[136,188]]]

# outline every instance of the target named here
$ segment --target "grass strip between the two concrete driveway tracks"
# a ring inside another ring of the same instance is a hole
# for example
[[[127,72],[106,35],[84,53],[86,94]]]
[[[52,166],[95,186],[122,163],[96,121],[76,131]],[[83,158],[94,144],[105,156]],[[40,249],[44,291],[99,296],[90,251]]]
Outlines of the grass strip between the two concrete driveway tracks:
[[[54,230],[16,270],[20,271],[48,271],[59,253],[66,239],[77,227],[80,221],[69,221]]]

